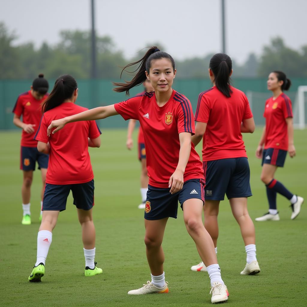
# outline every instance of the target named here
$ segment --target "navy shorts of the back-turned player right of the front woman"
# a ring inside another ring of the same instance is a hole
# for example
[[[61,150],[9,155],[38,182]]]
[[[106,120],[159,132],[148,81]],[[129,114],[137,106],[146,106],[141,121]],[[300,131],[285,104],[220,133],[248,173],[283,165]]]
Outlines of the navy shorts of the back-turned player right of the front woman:
[[[246,157],[203,162],[205,200],[252,196],[250,169]]]

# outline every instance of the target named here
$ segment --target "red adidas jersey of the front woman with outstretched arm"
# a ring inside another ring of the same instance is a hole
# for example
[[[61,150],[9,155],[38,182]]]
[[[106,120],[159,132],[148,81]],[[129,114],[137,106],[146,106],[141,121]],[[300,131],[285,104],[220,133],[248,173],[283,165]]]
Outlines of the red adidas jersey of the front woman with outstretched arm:
[[[145,93],[114,105],[115,110],[127,119],[137,119],[142,127],[149,184],[168,188],[169,178],[179,161],[179,133],[195,133],[195,124],[190,101],[173,90],[163,107],[156,102],[155,93]],[[185,168],[184,181],[203,179],[202,163],[194,145]]]

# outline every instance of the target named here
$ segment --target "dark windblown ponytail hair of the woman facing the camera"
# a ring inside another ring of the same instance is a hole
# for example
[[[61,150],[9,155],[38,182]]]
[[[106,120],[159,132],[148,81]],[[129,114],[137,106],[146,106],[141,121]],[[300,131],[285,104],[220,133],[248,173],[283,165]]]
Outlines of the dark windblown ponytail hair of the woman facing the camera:
[[[172,56],[170,56],[168,53],[164,51],[160,51],[157,46],[152,46],[152,47],[147,47],[147,48],[149,49],[147,50],[147,52],[145,53],[145,55],[142,57],[141,60],[138,60],[134,63],[130,63],[122,69],[120,77],[122,77],[122,73],[124,71],[128,72],[126,70],[128,67],[138,65],[137,68],[133,72],[129,72],[129,73],[134,73],[138,71],[133,77],[133,79],[131,81],[125,81],[125,83],[113,82],[113,84],[117,86],[113,89],[114,91],[116,92],[126,91],[126,95],[129,95],[129,90],[132,87],[140,85],[146,80],[145,71],[149,73],[149,69],[151,67],[152,60],[158,60],[162,58],[169,59],[169,61],[172,63],[173,71],[175,71],[176,65],[175,65],[175,61]]]

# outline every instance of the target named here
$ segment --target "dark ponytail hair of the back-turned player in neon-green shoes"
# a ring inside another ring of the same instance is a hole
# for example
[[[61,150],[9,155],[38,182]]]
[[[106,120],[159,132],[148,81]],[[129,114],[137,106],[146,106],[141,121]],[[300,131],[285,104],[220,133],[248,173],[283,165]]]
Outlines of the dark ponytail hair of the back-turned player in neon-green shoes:
[[[43,113],[59,106],[64,100],[71,98],[77,82],[71,75],[62,75],[56,79],[54,87],[43,104]]]

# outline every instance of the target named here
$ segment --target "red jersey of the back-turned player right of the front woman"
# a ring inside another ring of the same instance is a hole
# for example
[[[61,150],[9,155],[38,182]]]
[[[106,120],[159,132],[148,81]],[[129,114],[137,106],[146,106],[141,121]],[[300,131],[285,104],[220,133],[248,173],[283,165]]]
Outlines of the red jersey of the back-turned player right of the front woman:
[[[207,123],[203,137],[203,161],[247,157],[241,134],[243,119],[253,117],[247,97],[230,86],[227,98],[216,86],[200,93],[195,112],[197,122]]]

